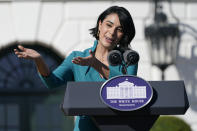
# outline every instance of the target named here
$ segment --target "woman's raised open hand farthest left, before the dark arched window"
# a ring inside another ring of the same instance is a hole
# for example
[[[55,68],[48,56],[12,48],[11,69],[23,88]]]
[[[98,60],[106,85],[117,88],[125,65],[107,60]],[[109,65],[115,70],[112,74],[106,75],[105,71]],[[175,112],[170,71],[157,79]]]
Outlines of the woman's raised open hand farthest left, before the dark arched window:
[[[21,45],[18,45],[18,48],[20,51],[18,49],[14,49],[14,52],[19,58],[36,60],[41,57],[41,55],[33,49],[25,48]]]

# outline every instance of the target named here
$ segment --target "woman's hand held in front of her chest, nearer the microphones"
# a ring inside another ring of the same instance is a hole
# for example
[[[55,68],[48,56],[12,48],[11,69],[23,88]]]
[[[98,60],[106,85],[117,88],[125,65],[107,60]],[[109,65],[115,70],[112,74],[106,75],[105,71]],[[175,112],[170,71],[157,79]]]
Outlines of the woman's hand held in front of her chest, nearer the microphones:
[[[89,50],[90,55],[87,57],[75,57],[72,60],[72,63],[81,65],[81,66],[93,66],[95,61],[95,56],[92,50]]]

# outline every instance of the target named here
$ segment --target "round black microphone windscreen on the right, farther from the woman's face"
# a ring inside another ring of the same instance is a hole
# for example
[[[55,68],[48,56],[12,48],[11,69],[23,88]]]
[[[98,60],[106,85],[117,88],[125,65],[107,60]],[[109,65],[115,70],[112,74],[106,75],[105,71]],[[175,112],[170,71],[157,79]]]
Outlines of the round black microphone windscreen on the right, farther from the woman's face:
[[[123,58],[127,65],[134,65],[138,63],[140,56],[134,50],[126,50],[123,54]]]

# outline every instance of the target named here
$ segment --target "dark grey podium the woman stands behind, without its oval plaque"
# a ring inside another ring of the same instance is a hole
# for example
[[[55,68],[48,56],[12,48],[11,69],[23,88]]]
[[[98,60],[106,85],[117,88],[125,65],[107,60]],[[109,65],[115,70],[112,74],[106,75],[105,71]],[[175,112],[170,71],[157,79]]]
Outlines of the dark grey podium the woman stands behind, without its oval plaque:
[[[63,104],[65,115],[91,116],[101,131],[148,131],[159,115],[185,114],[189,102],[183,81],[148,81],[151,101],[135,111],[109,108],[100,99],[103,82],[68,82]]]

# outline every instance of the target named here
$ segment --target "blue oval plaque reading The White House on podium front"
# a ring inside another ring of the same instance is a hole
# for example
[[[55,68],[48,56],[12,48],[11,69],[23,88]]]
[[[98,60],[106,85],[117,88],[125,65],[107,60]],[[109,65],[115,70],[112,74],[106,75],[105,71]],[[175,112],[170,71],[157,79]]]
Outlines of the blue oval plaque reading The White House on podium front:
[[[101,100],[110,108],[133,111],[146,106],[152,99],[153,89],[144,79],[123,75],[107,80],[101,87]]]

